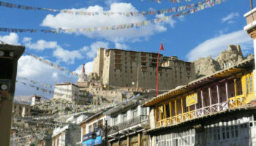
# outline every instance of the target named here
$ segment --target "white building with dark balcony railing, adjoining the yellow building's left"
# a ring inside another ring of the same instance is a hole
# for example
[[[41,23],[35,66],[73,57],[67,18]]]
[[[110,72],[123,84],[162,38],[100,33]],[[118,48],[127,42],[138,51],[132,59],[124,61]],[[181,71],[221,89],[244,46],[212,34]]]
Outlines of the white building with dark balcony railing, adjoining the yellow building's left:
[[[147,146],[148,137],[143,131],[149,128],[149,108],[140,103],[150,98],[151,94],[133,96],[126,104],[114,107],[105,112],[110,115],[110,126],[117,126],[108,133],[108,144],[111,146]],[[104,137],[105,139],[105,137]]]

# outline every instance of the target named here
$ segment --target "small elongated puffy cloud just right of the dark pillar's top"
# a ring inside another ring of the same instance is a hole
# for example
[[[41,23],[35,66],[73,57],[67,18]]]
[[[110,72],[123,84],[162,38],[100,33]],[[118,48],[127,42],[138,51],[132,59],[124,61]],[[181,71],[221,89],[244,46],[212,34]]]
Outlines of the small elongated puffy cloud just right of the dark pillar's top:
[[[45,41],[43,39],[38,40],[37,42],[31,43],[31,37],[24,37],[23,43],[26,47],[29,47],[29,49],[34,50],[45,50],[45,49],[53,49],[58,47],[57,42],[53,41]]]

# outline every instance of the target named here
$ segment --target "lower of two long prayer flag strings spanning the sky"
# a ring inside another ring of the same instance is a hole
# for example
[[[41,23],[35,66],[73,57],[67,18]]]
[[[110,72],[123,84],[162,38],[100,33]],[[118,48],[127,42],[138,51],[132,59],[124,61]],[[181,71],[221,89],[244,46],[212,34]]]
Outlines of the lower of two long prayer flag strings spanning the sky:
[[[138,27],[148,26],[149,23],[162,23],[162,22],[168,21],[172,18],[179,18],[181,16],[194,14],[195,12],[199,12],[200,10],[207,9],[209,7],[214,7],[217,4],[221,4],[222,1],[227,1],[227,0],[206,0],[200,4],[198,3],[197,5],[195,5],[195,8],[187,9],[186,11],[178,12],[176,14],[168,15],[168,16],[165,16],[162,18],[156,18],[153,20],[144,20],[144,21],[137,22],[137,23],[127,23],[127,24],[120,24],[120,25],[116,25],[116,26],[102,26],[102,27],[94,27],[94,28],[76,28],[76,29],[58,28],[56,30],[55,29],[41,30],[41,32],[59,34],[59,31],[63,31],[65,33],[72,33],[72,32],[84,32],[84,31],[94,32],[94,31],[103,31],[103,30],[108,31],[108,30],[121,30],[121,29],[127,29],[127,28],[138,28]],[[18,29],[18,28],[0,28],[0,31],[39,32],[39,30],[35,30],[35,29]],[[70,72],[69,70],[66,70],[66,72],[69,74],[76,74],[75,72]],[[77,74],[77,76],[78,76],[78,74]]]

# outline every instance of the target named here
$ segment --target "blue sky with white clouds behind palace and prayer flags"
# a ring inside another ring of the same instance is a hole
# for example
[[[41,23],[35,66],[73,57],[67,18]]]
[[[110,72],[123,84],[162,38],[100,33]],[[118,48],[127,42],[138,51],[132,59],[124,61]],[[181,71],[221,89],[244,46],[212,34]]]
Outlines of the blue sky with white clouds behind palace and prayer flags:
[[[183,4],[173,4],[167,0],[162,0],[161,4],[148,0],[9,0],[6,2],[53,9],[130,12],[178,7],[198,2],[198,0]],[[98,47],[157,53],[160,43],[163,42],[165,50],[162,53],[164,55],[177,55],[183,60],[193,61],[208,55],[215,57],[222,50],[226,50],[227,45],[239,44],[246,55],[253,53],[252,39],[243,31],[246,25],[243,15],[249,11],[249,8],[249,1],[227,0],[222,4],[182,18],[173,18],[164,23],[151,24],[141,28],[98,31],[90,34],[0,32],[0,40],[13,45],[25,45],[26,52],[48,59],[72,71],[80,72],[80,65],[84,63],[86,64],[86,73],[91,72],[91,61],[93,61]],[[165,14],[165,16],[167,15],[170,14]],[[4,28],[88,28],[134,23],[156,17],[159,15],[150,17],[93,17],[0,7],[0,27]],[[55,82],[75,82],[77,80],[75,77],[67,76],[25,55],[20,58],[18,76],[50,85]],[[52,96],[17,84],[16,95],[33,93]]]

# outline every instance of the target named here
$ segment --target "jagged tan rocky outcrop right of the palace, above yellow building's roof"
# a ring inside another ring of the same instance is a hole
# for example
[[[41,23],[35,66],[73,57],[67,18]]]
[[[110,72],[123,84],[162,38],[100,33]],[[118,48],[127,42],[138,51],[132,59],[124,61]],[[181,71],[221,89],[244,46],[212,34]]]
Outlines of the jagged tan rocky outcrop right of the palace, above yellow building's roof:
[[[244,58],[240,45],[228,45],[227,50],[219,53],[215,59],[209,56],[193,61],[195,63],[195,74],[197,78],[213,74],[214,72],[236,65],[248,58],[254,58],[254,55],[249,54]]]

